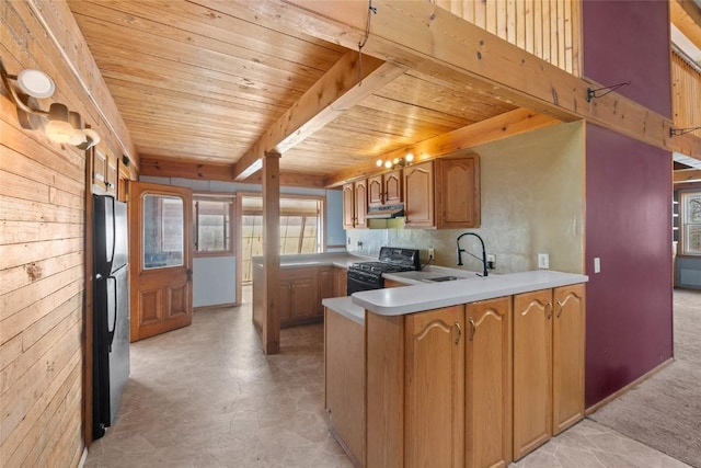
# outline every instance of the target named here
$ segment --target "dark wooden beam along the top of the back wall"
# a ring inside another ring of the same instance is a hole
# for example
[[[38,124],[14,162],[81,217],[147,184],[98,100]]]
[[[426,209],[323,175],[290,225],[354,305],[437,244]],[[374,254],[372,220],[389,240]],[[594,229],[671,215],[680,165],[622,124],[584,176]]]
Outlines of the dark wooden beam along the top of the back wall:
[[[223,162],[203,162],[195,160],[174,160],[156,156],[141,155],[141,175],[158,178],[182,178],[199,181],[231,182],[231,168],[233,164]],[[296,186],[304,189],[323,189],[325,180],[323,175],[302,174],[297,172],[283,172],[279,174],[281,186]],[[261,172],[240,181],[249,184],[262,184]]]

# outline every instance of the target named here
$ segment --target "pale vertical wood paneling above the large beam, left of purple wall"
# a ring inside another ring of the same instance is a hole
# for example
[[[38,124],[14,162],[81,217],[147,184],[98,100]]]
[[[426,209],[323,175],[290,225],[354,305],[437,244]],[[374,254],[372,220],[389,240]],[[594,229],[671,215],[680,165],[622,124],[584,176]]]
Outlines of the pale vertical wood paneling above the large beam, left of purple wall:
[[[579,0],[435,0],[451,13],[579,77]]]

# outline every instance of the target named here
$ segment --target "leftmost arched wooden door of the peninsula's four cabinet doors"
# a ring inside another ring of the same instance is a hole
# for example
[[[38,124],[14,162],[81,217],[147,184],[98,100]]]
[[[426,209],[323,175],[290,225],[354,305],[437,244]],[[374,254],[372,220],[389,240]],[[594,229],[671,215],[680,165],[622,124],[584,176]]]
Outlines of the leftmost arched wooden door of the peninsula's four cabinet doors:
[[[404,467],[463,467],[464,306],[404,323]]]

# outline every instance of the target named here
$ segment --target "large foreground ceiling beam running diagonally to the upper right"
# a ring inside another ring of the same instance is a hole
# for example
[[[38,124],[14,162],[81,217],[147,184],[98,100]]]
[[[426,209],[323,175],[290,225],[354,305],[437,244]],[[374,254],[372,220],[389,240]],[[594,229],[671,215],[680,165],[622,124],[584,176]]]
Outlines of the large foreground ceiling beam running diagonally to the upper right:
[[[619,93],[587,102],[585,80],[458,18],[434,2],[375,0],[364,52],[565,122],[585,118],[646,144],[676,150],[671,121]],[[361,1],[258,1],[260,14],[319,38],[357,47],[368,5]]]

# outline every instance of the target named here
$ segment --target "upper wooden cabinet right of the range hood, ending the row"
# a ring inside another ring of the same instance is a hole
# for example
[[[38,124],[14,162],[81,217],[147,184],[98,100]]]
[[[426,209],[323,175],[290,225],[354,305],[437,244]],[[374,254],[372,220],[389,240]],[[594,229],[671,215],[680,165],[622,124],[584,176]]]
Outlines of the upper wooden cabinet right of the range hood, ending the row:
[[[480,226],[480,159],[440,158],[404,169],[407,228]]]

